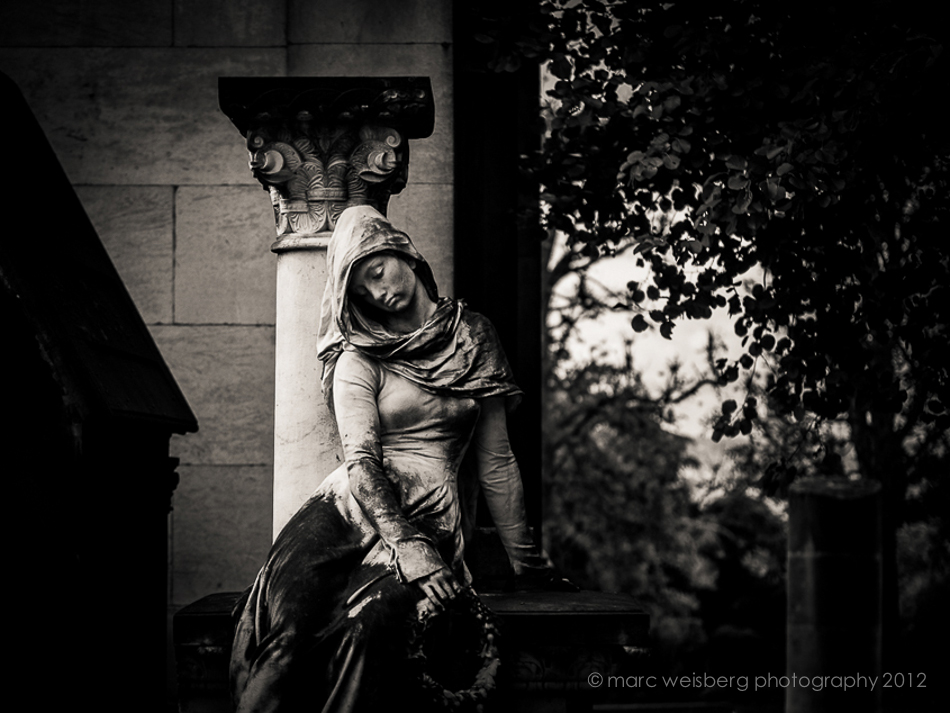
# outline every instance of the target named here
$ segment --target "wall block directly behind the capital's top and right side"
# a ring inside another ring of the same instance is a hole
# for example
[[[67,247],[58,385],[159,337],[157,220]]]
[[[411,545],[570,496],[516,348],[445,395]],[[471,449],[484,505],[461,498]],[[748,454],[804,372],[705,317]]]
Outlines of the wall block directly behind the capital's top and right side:
[[[448,45],[301,45],[288,49],[290,76],[429,77],[435,130],[410,141],[409,185],[452,181],[452,52]]]

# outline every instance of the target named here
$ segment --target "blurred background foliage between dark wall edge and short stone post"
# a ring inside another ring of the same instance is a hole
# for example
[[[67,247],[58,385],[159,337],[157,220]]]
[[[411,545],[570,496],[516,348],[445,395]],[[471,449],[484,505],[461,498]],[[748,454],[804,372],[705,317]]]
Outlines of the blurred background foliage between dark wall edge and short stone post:
[[[674,372],[651,392],[632,365],[596,362],[549,379],[544,540],[559,567],[584,588],[636,597],[665,674],[781,670],[784,524],[744,484],[698,504],[689,439],[667,430],[669,406],[695,383]],[[711,660],[720,650],[728,662]]]

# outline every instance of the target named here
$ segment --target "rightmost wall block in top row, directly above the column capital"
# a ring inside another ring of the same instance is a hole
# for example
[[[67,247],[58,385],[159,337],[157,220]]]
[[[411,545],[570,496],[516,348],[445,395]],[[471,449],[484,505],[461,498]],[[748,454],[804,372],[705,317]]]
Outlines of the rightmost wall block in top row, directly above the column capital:
[[[446,0],[291,0],[289,9],[294,44],[452,41],[452,3]]]

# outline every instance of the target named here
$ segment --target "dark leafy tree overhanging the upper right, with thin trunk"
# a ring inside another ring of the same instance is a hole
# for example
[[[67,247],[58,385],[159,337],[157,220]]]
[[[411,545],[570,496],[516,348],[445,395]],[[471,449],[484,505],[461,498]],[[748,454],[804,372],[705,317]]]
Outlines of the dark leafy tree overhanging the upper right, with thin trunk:
[[[719,378],[767,374],[766,398],[723,403],[713,437],[750,433],[764,409],[846,424],[857,472],[884,488],[886,641],[907,474],[950,426],[938,13],[543,0],[481,33],[496,68],[529,55],[557,80],[531,166],[545,227],[592,256],[635,241],[651,276],[629,285],[634,329],[669,337],[727,308],[745,353]]]

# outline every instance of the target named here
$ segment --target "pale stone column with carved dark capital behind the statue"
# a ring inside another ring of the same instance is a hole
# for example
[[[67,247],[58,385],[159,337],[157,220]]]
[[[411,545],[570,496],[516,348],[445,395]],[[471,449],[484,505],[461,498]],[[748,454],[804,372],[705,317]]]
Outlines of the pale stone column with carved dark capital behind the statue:
[[[317,359],[327,246],[345,208],[385,215],[405,187],[408,141],[432,133],[432,89],[424,77],[228,77],[218,93],[276,222],[276,537],[342,462]]]

